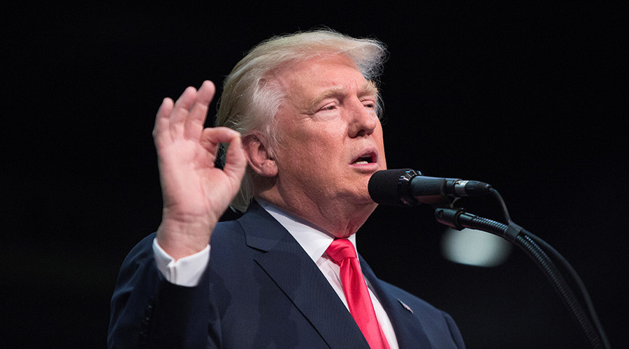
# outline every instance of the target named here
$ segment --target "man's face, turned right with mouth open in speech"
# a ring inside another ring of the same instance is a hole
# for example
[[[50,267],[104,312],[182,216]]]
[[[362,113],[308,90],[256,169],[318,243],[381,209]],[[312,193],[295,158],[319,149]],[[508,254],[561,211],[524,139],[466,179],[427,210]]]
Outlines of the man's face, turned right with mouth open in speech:
[[[292,64],[276,77],[287,91],[276,114],[280,194],[300,207],[374,209],[368,181],[386,169],[375,85],[342,54]]]

